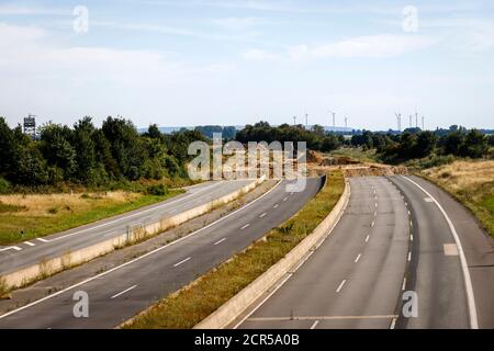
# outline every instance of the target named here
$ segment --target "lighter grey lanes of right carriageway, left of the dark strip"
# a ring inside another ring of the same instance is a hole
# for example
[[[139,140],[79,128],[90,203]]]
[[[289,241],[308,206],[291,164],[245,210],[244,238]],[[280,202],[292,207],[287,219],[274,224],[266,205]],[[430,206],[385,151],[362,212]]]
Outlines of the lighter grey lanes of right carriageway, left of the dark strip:
[[[350,190],[330,237],[240,328],[389,328],[406,268],[407,211],[384,178],[351,178]]]

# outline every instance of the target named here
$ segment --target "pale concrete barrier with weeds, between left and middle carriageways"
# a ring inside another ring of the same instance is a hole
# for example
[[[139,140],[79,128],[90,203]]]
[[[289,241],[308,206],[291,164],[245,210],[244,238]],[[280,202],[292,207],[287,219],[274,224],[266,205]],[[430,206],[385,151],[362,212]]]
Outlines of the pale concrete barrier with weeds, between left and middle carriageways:
[[[82,249],[68,251],[60,257],[49,258],[31,267],[22,268],[14,272],[7,273],[0,276],[0,281],[2,281],[10,290],[21,287],[33,281],[45,279],[63,270],[88,262],[97,257],[110,253],[115,249],[123,248],[127,245],[137,244],[154,235],[157,235],[158,233],[165,231],[187,220],[199,217],[214,210],[216,206],[227,204],[238,199],[243,194],[251,191],[265,180],[266,176],[262,176],[257,180],[252,180],[251,183],[220,199],[213,200],[210,203],[188,210],[172,217],[161,218],[157,222],[148,223],[145,225],[128,227],[127,231],[120,236],[106,239]]]

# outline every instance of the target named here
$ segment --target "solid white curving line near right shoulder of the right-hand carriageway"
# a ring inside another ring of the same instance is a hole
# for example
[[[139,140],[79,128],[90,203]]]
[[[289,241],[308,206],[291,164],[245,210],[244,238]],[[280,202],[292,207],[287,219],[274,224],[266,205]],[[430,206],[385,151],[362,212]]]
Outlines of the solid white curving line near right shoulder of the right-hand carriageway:
[[[445,217],[446,222],[448,223],[449,229],[451,230],[451,234],[454,238],[454,241],[458,246],[458,253],[460,254],[460,263],[461,263],[461,270],[463,271],[463,281],[464,281],[464,287],[467,290],[467,301],[469,305],[469,313],[470,313],[470,327],[472,329],[479,329],[479,320],[476,317],[476,308],[475,308],[475,297],[473,295],[473,285],[472,280],[470,278],[470,271],[469,267],[467,264],[467,258],[464,256],[463,247],[461,246],[460,237],[458,236],[457,229],[454,229],[454,226],[449,218],[448,214],[446,213],[445,208],[439,204],[439,202],[423,186],[414,182],[408,177],[403,177],[407,181],[409,181],[412,184],[420,189],[427,196],[429,196],[433,202],[436,204],[436,206],[439,208],[439,211],[442,213],[442,216]]]

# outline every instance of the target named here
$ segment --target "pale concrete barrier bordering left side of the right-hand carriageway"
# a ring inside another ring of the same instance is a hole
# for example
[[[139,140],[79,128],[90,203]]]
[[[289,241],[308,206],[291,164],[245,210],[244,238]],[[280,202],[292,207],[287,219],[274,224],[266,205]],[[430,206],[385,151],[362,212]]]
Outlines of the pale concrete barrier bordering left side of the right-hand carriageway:
[[[345,181],[345,190],[329,215],[303,239],[284,258],[273,264],[265,273],[258,276],[254,282],[242,290],[237,295],[228,299],[218,309],[194,326],[194,329],[222,329],[232,324],[240,314],[243,314],[251,304],[254,304],[263,293],[290,273],[308,251],[317,248],[333,231],[338,223],[350,197],[350,186]]]

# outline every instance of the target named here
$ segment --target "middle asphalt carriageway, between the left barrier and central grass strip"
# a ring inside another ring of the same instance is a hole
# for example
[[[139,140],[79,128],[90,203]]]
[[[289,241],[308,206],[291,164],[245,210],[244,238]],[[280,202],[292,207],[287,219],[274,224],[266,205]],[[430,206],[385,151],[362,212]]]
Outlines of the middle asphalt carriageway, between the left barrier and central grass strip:
[[[321,189],[282,181],[256,201],[170,245],[0,316],[0,328],[112,328],[177,291],[295,214]],[[74,316],[75,293],[89,297],[89,318]]]

